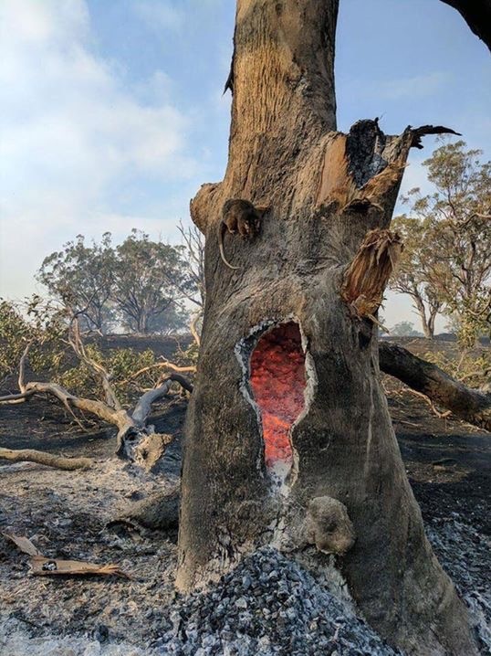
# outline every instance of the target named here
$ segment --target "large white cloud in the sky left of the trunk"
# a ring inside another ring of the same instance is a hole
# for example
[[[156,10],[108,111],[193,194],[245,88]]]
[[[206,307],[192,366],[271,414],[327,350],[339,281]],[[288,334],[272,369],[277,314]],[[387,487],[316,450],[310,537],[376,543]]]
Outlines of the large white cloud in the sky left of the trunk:
[[[183,181],[196,166],[165,72],[143,98],[125,87],[92,52],[85,0],[2,0],[0,26],[0,288],[18,295],[51,250],[106,229],[100,208],[124,180]]]

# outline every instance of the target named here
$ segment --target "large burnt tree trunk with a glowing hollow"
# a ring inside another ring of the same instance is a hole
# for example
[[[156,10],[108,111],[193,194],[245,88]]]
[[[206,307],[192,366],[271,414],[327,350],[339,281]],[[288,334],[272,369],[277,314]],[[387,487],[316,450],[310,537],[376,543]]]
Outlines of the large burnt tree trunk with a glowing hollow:
[[[204,585],[265,544],[325,563],[315,544],[339,554],[353,598],[392,644],[473,654],[465,607],[406,478],[376,326],[360,318],[380,302],[369,291],[381,254],[364,250],[379,242],[365,238],[380,229],[391,242],[406,159],[424,131],[387,136],[363,121],[336,132],[337,10],[338,0],[237,3],[225,179],[191,206],[206,236],[206,304],[177,585]],[[258,238],[225,236],[237,270],[216,237],[230,198],[269,207]]]

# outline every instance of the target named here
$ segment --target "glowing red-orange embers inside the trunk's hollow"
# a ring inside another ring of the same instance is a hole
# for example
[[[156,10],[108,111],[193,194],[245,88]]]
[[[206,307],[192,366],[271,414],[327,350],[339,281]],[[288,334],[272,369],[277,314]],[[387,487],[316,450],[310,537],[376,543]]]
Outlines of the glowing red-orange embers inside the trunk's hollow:
[[[266,466],[291,464],[289,429],[304,407],[305,355],[297,323],[265,333],[251,355],[251,386],[261,410]]]

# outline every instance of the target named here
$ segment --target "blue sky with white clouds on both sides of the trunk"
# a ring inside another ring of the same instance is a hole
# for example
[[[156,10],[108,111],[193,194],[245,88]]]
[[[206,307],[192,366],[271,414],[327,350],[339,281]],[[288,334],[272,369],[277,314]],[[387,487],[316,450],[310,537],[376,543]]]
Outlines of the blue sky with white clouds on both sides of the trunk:
[[[178,238],[226,163],[232,0],[1,0],[0,294],[82,233]],[[340,0],[338,121],[444,124],[491,155],[487,48],[439,0]],[[424,185],[414,151],[403,188]],[[39,291],[39,290],[37,290]],[[389,325],[416,321],[391,295]]]

